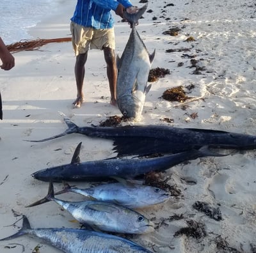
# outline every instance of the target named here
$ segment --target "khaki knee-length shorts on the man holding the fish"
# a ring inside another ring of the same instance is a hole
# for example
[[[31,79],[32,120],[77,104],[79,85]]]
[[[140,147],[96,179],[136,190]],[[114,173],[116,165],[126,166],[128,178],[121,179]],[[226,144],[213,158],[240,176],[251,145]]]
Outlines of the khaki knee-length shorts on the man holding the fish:
[[[115,49],[114,28],[98,30],[71,22],[70,31],[72,33],[72,45],[76,56],[87,52],[89,47],[90,49],[100,50],[102,50],[102,47]]]

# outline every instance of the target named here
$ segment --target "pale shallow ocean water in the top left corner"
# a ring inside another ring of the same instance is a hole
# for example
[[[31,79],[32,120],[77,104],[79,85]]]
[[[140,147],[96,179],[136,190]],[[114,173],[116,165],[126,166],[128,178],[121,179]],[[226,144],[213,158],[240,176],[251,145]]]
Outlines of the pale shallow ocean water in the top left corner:
[[[0,0],[0,36],[6,45],[33,39],[29,27],[58,11],[61,0]]]

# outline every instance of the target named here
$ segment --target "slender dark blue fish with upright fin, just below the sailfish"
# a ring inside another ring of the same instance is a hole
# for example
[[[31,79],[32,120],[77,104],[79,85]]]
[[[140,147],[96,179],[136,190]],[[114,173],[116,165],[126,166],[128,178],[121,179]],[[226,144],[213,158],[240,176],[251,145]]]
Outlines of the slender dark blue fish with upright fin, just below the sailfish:
[[[181,153],[165,155],[163,157],[152,158],[109,158],[104,160],[95,160],[81,162],[79,153],[81,149],[80,142],[72,157],[70,164],[58,165],[36,171],[31,176],[42,181],[102,181],[109,178],[134,179],[137,176],[150,173],[152,171],[166,171],[170,167],[188,160],[194,160],[199,157],[218,156],[218,153],[212,153],[207,146],[200,150],[189,150]]]

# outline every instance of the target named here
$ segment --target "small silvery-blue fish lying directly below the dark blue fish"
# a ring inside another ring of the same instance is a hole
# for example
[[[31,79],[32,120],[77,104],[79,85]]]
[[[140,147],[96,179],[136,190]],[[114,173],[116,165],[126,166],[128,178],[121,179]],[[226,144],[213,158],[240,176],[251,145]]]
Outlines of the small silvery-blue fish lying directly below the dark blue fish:
[[[104,183],[90,188],[70,187],[64,183],[63,190],[55,195],[75,192],[86,197],[93,197],[99,201],[108,201],[127,208],[145,208],[152,204],[159,204],[170,199],[168,192],[161,188],[140,185],[138,183]],[[45,202],[49,200],[45,199]]]

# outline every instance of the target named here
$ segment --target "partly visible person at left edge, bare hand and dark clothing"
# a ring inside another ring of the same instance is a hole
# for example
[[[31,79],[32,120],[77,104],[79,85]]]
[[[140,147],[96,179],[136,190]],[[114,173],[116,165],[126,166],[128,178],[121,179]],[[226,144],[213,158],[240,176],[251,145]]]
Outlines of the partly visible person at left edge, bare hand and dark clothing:
[[[0,66],[2,70],[10,70],[15,65],[15,59],[7,49],[1,37],[0,37],[0,59],[2,61],[2,65]],[[3,119],[1,92],[0,92],[0,119]]]

